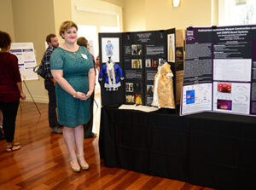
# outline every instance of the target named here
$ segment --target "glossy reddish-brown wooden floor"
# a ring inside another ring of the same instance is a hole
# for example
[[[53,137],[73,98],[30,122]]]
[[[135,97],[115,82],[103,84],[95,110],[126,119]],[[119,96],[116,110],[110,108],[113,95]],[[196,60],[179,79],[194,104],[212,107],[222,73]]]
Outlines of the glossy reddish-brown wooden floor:
[[[62,135],[52,134],[47,104],[21,102],[17,115],[16,141],[22,148],[6,153],[0,141],[0,189],[173,189],[211,190],[183,181],[148,176],[130,170],[107,168],[99,158],[98,137],[84,140],[84,153],[90,169],[74,173],[68,164]],[[100,109],[98,109],[100,112]],[[99,117],[96,117],[99,124]]]

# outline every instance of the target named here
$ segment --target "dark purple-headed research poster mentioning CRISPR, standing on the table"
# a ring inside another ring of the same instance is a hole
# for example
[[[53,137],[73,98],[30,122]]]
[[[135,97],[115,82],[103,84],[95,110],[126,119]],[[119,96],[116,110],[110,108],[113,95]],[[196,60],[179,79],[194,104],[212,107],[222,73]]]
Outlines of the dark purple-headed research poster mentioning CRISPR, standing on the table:
[[[189,27],[181,115],[256,115],[256,26]]]

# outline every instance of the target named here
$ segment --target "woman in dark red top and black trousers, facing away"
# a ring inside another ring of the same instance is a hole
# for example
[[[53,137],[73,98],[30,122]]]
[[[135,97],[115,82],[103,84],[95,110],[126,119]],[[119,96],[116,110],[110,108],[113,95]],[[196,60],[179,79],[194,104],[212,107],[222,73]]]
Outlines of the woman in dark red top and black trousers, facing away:
[[[3,132],[7,141],[6,151],[20,149],[14,142],[15,121],[22,100],[26,95],[22,91],[18,59],[9,53],[11,38],[8,33],[0,31],[0,109],[3,112]]]

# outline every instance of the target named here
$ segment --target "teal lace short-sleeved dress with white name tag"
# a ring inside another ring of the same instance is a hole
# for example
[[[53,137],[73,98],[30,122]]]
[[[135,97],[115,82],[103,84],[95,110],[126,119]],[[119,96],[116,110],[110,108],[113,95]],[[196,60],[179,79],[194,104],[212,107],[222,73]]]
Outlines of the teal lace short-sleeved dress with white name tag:
[[[88,49],[80,46],[76,52],[57,48],[50,57],[50,69],[62,70],[63,78],[73,89],[86,94],[89,90],[88,72],[93,62]],[[58,122],[67,127],[86,124],[90,119],[90,99],[79,101],[73,98],[58,83],[55,85]]]

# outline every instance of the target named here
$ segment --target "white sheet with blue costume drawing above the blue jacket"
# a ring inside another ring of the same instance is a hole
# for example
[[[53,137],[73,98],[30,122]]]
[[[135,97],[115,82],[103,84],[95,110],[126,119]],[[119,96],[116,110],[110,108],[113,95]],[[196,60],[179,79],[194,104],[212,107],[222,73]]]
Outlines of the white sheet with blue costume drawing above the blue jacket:
[[[102,37],[102,63],[108,62],[109,57],[119,62],[119,37]]]

